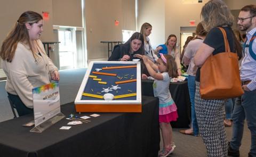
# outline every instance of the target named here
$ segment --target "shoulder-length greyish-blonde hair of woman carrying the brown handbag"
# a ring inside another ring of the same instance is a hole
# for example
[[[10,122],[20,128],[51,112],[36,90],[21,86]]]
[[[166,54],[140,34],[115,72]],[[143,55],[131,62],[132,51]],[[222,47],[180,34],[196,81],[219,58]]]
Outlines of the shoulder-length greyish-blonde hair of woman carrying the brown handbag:
[[[232,26],[234,16],[222,0],[207,2],[201,11],[202,24],[206,31],[219,26]]]

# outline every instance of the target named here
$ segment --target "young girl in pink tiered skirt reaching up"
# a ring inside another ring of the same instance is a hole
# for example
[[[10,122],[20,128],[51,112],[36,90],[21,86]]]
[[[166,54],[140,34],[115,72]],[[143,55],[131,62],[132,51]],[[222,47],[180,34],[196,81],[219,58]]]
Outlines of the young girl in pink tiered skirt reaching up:
[[[141,58],[151,77],[155,79],[153,84],[154,95],[159,98],[159,123],[162,131],[163,150],[158,156],[165,157],[174,151],[175,145],[172,142],[171,121],[178,118],[177,106],[172,100],[169,90],[171,77],[177,77],[177,65],[171,55],[160,54],[157,65],[148,59],[145,55],[137,55]],[[142,75],[142,79],[146,79],[146,75]]]

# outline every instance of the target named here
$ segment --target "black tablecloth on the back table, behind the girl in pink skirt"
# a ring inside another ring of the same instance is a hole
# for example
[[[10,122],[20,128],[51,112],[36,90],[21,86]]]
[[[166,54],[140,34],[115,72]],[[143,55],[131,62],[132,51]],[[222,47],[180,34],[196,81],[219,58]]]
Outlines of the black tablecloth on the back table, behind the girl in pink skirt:
[[[142,80],[141,92],[142,95],[154,96],[152,80]],[[173,101],[177,105],[179,118],[175,122],[171,122],[173,128],[189,128],[191,104],[188,92],[188,82],[171,82],[170,93]]]

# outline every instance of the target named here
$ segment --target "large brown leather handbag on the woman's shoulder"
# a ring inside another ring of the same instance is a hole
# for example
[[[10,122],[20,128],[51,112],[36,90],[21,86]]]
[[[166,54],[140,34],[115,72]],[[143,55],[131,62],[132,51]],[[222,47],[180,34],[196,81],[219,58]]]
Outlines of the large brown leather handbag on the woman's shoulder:
[[[223,34],[225,52],[209,56],[200,70],[200,94],[203,99],[233,98],[244,94],[238,56],[230,52],[226,31],[219,29]]]

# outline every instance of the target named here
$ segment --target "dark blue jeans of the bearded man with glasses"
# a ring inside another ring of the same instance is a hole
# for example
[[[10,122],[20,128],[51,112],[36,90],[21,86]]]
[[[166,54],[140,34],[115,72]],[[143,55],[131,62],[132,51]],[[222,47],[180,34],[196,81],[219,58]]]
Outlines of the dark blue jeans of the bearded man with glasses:
[[[244,120],[251,131],[251,150],[252,156],[256,156],[256,89],[250,92],[244,91],[241,97],[236,98],[233,111],[233,131],[230,146],[234,150],[239,150],[244,131]]]

